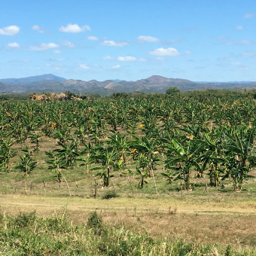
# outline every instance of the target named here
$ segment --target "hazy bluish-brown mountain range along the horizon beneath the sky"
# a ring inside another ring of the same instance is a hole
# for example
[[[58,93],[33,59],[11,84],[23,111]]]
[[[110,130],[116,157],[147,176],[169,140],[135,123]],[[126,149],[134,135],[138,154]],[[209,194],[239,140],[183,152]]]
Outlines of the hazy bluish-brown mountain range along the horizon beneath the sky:
[[[138,81],[81,81],[66,80],[56,75],[37,75],[28,78],[0,79],[0,93],[60,93],[66,90],[72,93],[94,93],[110,95],[111,93],[165,93],[169,87],[178,87],[181,91],[206,89],[256,89],[256,82],[193,82],[186,79],[163,78],[152,75]]]

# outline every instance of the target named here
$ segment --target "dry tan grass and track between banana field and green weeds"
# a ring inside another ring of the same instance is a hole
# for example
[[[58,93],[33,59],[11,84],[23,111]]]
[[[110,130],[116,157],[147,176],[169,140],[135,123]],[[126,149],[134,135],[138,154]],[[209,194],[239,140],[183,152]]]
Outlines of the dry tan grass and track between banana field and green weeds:
[[[48,216],[66,207],[75,223],[85,223],[92,211],[108,224],[145,229],[155,238],[181,237],[186,242],[256,247],[256,203],[253,200],[199,202],[177,198],[36,197],[1,195],[1,212],[36,211]]]

